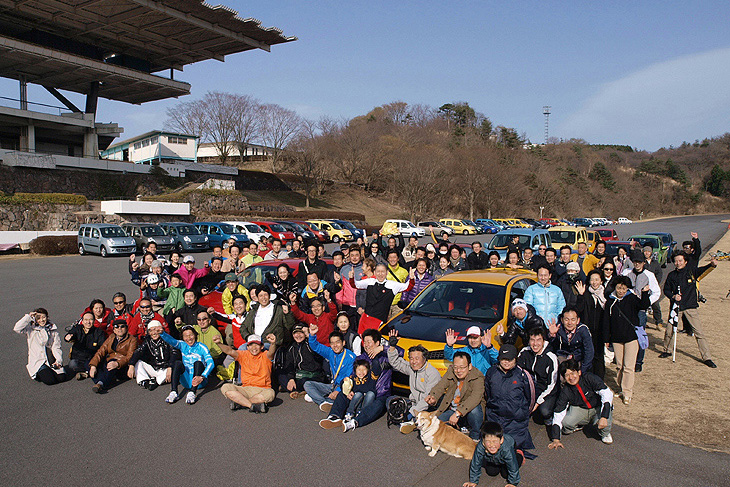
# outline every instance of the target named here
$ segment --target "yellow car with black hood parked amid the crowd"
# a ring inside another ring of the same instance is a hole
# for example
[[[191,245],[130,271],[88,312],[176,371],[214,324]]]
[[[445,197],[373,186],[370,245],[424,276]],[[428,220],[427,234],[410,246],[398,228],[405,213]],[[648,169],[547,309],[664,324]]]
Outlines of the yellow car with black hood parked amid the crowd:
[[[522,298],[525,290],[537,282],[534,272],[510,269],[484,269],[448,274],[431,283],[397,316],[381,327],[383,336],[395,328],[398,346],[406,350],[421,344],[429,351],[427,358],[443,375],[450,362],[444,360],[446,330],[456,331],[456,347],[466,345],[466,330],[479,326],[495,340],[497,327],[506,327],[509,307]],[[407,389],[408,379],[393,375],[393,385]]]

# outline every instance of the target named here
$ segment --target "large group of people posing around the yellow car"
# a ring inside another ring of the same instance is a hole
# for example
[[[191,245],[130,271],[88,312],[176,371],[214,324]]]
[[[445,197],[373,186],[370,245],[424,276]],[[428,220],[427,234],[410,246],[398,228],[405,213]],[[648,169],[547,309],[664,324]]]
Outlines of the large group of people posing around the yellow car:
[[[562,435],[585,426],[611,444],[614,397],[626,405],[634,397],[648,345],[647,314],[658,329],[664,325],[662,294],[670,302],[670,325],[659,356],[671,355],[673,330],[686,321],[702,361],[715,367],[697,313],[697,284],[717,263],[698,266],[696,234],[674,255],[663,287],[650,247],[622,249],[612,258],[602,242],[594,253],[584,243],[577,253],[545,245],[533,253],[515,239],[502,261],[479,242],[466,255],[461,246],[431,237],[420,246],[415,237],[406,243],[374,236],[343,244],[331,256],[312,241],[284,246],[271,239],[248,247],[230,241],[201,267],[192,255],[164,257],[150,243],[141,259],[129,261],[134,299],[116,292],[108,308],[95,298],[64,333],[37,308],[14,330],[27,336],[30,377],[47,385],[90,378],[92,390],[105,393],[133,379],[148,390],[168,384],[169,404],[182,397],[182,387],[185,402],[194,404],[199,391],[223,383],[232,410],[266,413],[284,394],[315,404],[326,415],[320,426],[343,432],[386,413],[390,422],[392,413],[409,434],[419,411],[433,411],[476,442],[465,486],[476,485],[483,470],[519,482],[520,466],[534,457],[531,418],[546,425],[550,449],[563,448]],[[287,258],[301,261],[295,269],[281,261]],[[245,287],[247,269],[263,260],[278,262],[276,271]],[[442,376],[424,346],[403,350],[398,331],[383,328],[435,279],[494,267],[537,276],[496,327],[499,347],[478,323],[466,330],[461,348],[458,334],[447,330],[443,357],[450,365]],[[65,365],[62,340],[71,344]],[[615,392],[605,382],[613,363]],[[391,390],[394,370],[408,378],[405,399]]]

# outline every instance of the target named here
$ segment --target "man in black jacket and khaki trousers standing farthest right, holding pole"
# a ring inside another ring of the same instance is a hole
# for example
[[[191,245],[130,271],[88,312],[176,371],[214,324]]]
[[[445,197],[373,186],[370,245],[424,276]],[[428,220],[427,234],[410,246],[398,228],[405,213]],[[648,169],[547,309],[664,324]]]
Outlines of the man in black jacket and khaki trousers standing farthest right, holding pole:
[[[709,264],[702,267],[692,266],[690,261],[691,257],[688,257],[684,252],[674,256],[675,269],[669,273],[667,280],[664,282],[664,295],[669,298],[672,306],[678,305],[678,321],[681,322],[684,318],[692,326],[702,356],[702,362],[714,369],[717,365],[710,356],[710,349],[707,347],[707,340],[702,332],[702,323],[700,322],[697,282],[717,267],[717,261],[713,257]],[[670,308],[670,314],[671,312]],[[664,332],[664,352],[659,354],[660,358],[672,356],[669,345],[673,335],[674,327],[667,326]]]

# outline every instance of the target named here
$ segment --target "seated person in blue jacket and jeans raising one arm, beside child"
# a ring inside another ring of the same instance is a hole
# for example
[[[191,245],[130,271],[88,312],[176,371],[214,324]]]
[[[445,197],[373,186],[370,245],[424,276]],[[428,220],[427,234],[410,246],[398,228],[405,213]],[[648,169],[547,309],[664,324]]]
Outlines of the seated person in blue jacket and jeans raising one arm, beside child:
[[[345,337],[340,331],[330,333],[330,346],[327,347],[317,341],[319,327],[315,324],[309,325],[309,346],[312,351],[327,359],[330,364],[332,382],[324,384],[309,380],[304,383],[304,390],[307,394],[304,399],[307,402],[315,402],[319,409],[329,412],[332,409],[337,394],[342,390],[342,381],[352,373],[352,366],[355,363],[355,354],[352,350],[345,348]]]

